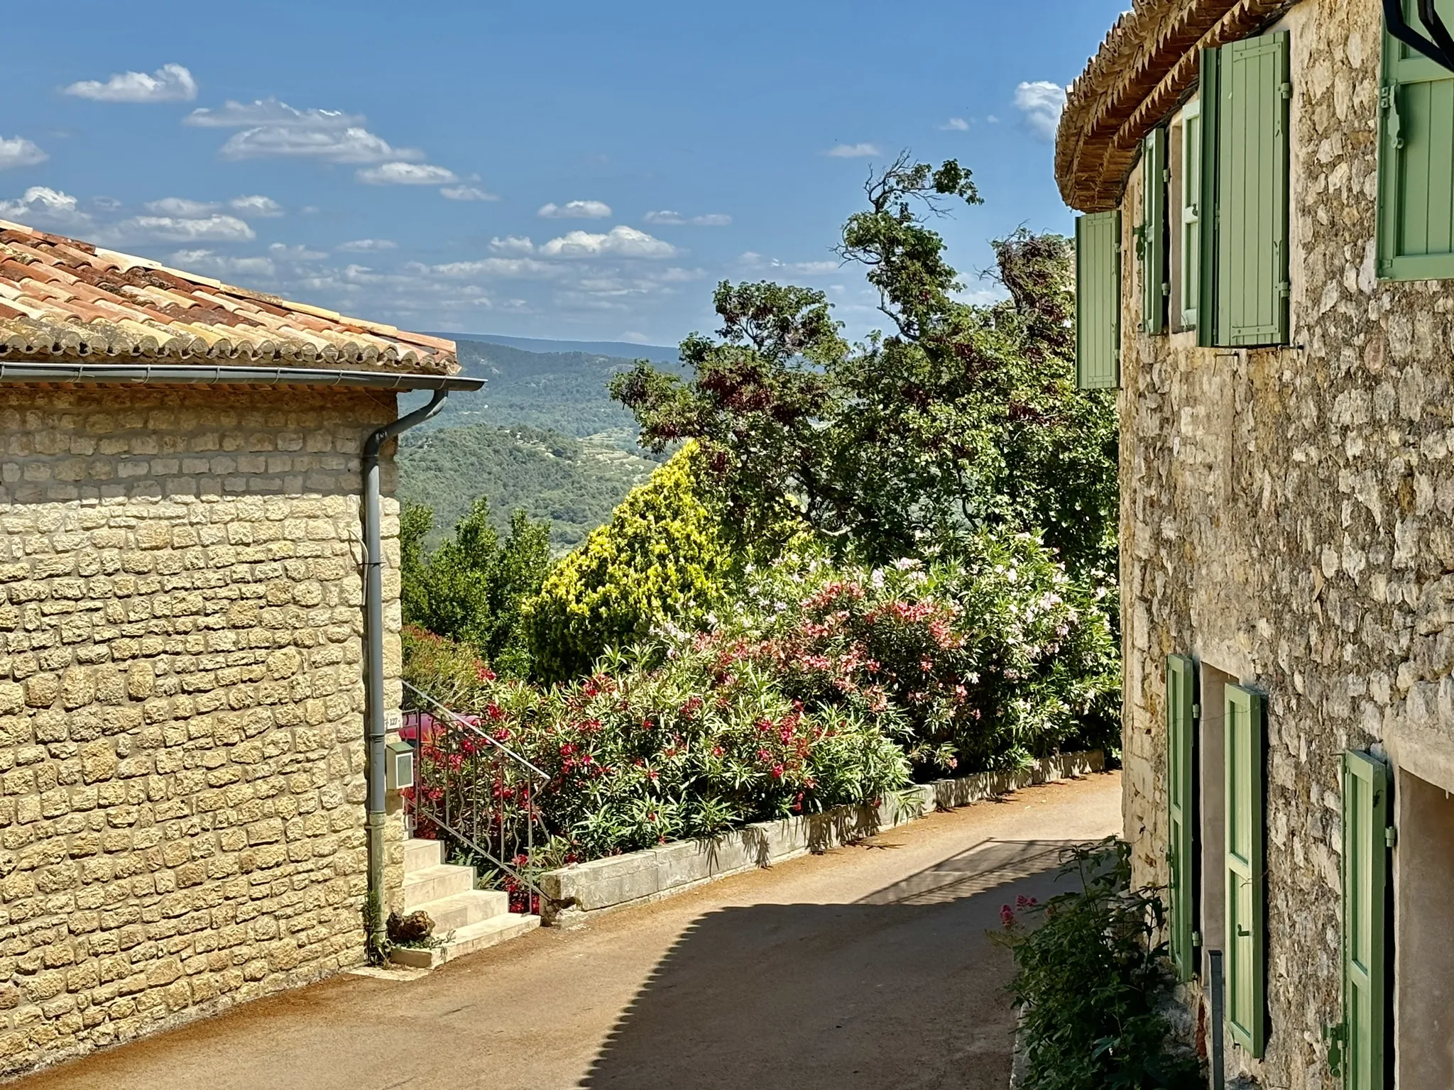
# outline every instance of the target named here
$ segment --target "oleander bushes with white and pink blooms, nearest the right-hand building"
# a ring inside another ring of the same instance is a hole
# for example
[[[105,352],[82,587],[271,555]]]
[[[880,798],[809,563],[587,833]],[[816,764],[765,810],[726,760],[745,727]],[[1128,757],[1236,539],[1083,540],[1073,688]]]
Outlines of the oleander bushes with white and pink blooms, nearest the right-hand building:
[[[678,654],[778,679],[808,709],[891,715],[920,779],[1021,767],[1120,741],[1120,658],[1105,596],[1029,535],[881,568],[811,546],[750,571]]]

